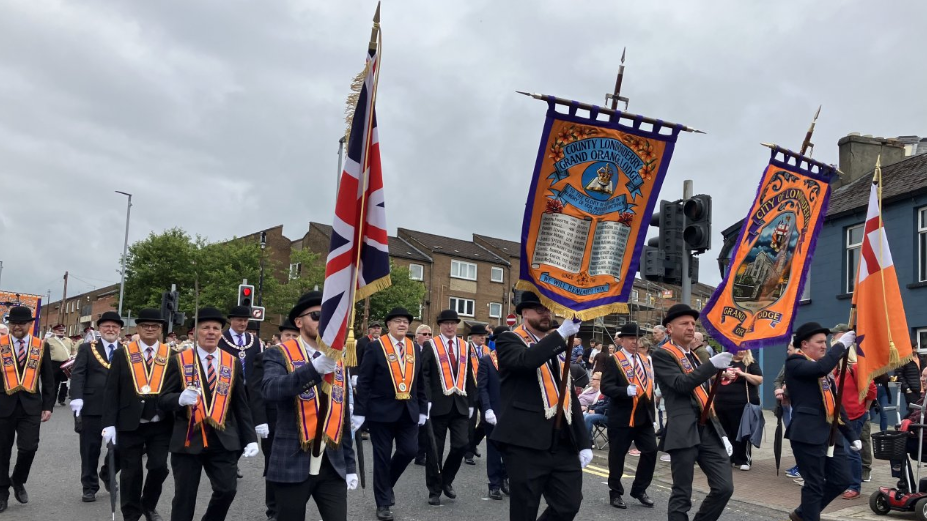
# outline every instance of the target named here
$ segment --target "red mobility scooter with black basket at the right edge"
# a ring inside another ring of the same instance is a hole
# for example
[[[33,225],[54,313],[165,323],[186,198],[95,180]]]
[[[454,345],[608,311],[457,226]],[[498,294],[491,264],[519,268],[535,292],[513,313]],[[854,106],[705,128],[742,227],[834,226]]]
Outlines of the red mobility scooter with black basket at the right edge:
[[[906,419],[898,430],[877,432],[872,435],[872,455],[876,459],[892,462],[892,475],[900,478],[895,488],[879,487],[869,497],[869,508],[878,515],[896,512],[914,512],[918,521],[927,521],[927,477],[920,477],[920,464],[915,475],[911,456],[918,462],[924,457],[924,408],[912,404],[920,411],[919,422]],[[914,485],[917,484],[917,488]]]

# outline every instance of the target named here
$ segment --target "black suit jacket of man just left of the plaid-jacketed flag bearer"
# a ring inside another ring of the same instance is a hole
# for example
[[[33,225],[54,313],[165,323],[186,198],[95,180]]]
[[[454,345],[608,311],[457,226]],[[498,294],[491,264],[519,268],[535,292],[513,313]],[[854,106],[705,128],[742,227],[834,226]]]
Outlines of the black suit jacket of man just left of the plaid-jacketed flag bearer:
[[[196,354],[196,356],[199,355]],[[199,428],[194,432],[190,446],[184,447],[188,419],[187,407],[181,407],[178,402],[180,393],[186,388],[181,372],[180,355],[174,355],[167,363],[167,373],[164,376],[164,387],[158,397],[158,407],[174,415],[174,432],[171,435],[170,451],[199,454],[203,451],[203,436]],[[209,402],[212,396],[209,394],[209,386],[205,385],[206,375],[203,373],[202,366],[200,366],[200,382],[204,382],[204,400]],[[206,424],[206,429],[213,429],[213,427]],[[254,423],[251,420],[251,407],[248,405],[248,389],[245,388],[245,382],[241,376],[241,362],[238,357],[235,357],[235,376],[232,380],[228,414],[225,417],[225,429],[214,429],[214,431],[222,447],[228,451],[239,451],[245,445],[257,442]]]

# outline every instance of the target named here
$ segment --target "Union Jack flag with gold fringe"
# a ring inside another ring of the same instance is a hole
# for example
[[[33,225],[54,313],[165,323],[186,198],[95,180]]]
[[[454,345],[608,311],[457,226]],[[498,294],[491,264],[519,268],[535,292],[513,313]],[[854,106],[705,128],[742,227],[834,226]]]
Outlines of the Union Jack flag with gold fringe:
[[[383,172],[374,107],[378,69],[379,53],[376,45],[372,45],[351,121],[325,264],[319,337],[323,348],[336,351],[344,349],[354,303],[390,285]]]

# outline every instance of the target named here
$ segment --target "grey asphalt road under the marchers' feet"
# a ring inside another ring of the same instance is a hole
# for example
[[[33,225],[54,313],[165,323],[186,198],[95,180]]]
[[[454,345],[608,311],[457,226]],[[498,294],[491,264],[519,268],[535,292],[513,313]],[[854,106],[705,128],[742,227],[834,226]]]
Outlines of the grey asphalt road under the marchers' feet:
[[[95,503],[81,502],[80,456],[78,438],[73,430],[73,420],[67,407],[57,406],[48,423],[42,424],[41,442],[32,467],[32,474],[26,484],[30,502],[21,505],[10,496],[9,509],[0,514],[0,520],[73,520],[97,521],[111,519],[110,497],[102,488]],[[376,519],[376,506],[372,491],[371,449],[365,442],[367,456],[367,490],[349,492],[349,519]],[[483,450],[485,453],[485,450]],[[105,454],[105,451],[104,451]],[[15,449],[14,449],[15,458]],[[628,458],[629,461],[634,458]],[[232,504],[228,519],[230,521],[263,521],[264,482],[261,477],[263,458],[243,459],[241,469],[245,477],[239,480],[238,496]],[[655,483],[649,491],[656,501],[653,509],[644,508],[631,498],[627,510],[618,510],[608,505],[608,490],[605,485],[607,469],[597,459],[586,469],[583,481],[583,507],[578,520],[663,520],[666,519],[666,501],[669,490]],[[629,472],[628,472],[629,473]],[[629,486],[630,480],[625,486]],[[454,520],[504,520],[508,519],[508,498],[493,501],[486,497],[486,465],[483,459],[476,459],[476,466],[464,465],[454,484],[458,498],[442,498],[443,505],[432,507],[427,504],[428,494],[425,489],[424,467],[410,465],[400,480],[396,490],[396,506],[393,513],[402,521],[433,521],[437,519]],[[173,497],[173,475],[165,482],[159,512],[169,519],[170,503]],[[210,494],[208,480],[203,478],[200,486],[201,504],[197,509],[197,518],[205,510]],[[698,500],[695,499],[696,507]],[[542,507],[543,508],[543,507]],[[694,511],[690,516],[694,515]],[[787,516],[781,512],[744,503],[732,502],[721,519],[725,521],[782,521]],[[120,513],[116,519],[122,519]],[[320,519],[312,502],[306,519]]]

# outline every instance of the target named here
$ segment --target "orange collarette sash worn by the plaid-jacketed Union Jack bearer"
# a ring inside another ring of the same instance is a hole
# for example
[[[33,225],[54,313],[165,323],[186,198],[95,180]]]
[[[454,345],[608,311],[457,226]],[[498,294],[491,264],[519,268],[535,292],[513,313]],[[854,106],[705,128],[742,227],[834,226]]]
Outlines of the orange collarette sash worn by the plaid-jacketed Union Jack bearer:
[[[297,338],[288,340],[278,347],[283,353],[286,360],[287,371],[292,373],[309,362],[309,356],[303,345],[304,340]],[[322,384],[320,384],[322,385]],[[326,396],[325,385],[323,388],[323,399]],[[341,434],[344,426],[344,397],[345,379],[344,379],[344,362],[338,360],[335,365],[334,380],[331,384],[331,390],[328,392],[328,411],[325,415],[325,422],[322,425],[322,434],[326,443],[338,445],[341,443]],[[316,387],[312,386],[303,389],[303,392],[294,398],[296,402],[296,422],[299,430],[299,446],[302,450],[307,451],[312,447],[315,440],[316,430],[319,422],[319,397],[316,393]]]

